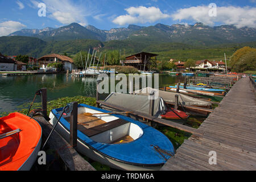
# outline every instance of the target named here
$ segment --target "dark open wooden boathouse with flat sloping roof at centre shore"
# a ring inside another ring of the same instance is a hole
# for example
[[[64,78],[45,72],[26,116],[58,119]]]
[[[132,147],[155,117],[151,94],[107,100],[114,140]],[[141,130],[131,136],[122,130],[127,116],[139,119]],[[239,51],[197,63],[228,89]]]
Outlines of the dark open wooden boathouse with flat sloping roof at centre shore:
[[[157,66],[156,54],[148,52],[140,52],[135,55],[127,56],[125,60],[122,61],[123,65],[129,65],[140,71],[150,71],[151,68]]]

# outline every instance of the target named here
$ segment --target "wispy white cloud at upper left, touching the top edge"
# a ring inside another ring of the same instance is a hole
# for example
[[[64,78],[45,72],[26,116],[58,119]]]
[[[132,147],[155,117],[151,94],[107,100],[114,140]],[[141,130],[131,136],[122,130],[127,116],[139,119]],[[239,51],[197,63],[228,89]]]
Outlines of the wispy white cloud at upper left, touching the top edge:
[[[90,2],[86,1],[83,4],[73,3],[71,0],[30,0],[35,9],[38,9],[38,4],[43,2],[46,4],[46,14],[49,18],[56,19],[60,23],[70,24],[74,22],[80,22],[81,24],[87,24],[85,19],[93,12],[93,8],[90,6]],[[84,6],[86,5],[86,7]]]

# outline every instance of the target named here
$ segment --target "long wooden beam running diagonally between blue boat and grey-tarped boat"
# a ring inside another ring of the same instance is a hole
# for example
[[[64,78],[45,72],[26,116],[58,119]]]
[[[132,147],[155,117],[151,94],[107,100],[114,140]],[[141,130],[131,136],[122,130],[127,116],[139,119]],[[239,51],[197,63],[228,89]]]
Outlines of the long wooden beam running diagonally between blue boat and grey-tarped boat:
[[[160,123],[160,124],[163,124],[163,125],[166,125],[166,126],[174,127],[175,129],[179,129],[179,130],[191,133],[196,137],[202,137],[203,134],[204,134],[203,132],[200,132],[197,129],[194,129],[192,127],[181,125],[179,123],[175,123],[175,122],[172,122],[170,120],[153,117],[149,114],[144,114],[144,113],[135,111],[133,109],[128,109],[128,108],[125,108],[125,107],[122,107],[122,106],[109,104],[109,103],[104,102],[104,101],[97,101],[97,103],[101,104],[101,105],[104,105],[104,106],[107,106],[107,107],[111,107],[111,108],[116,109],[116,110],[129,111],[129,112],[131,112],[131,115],[137,115],[138,117],[145,118],[145,119],[148,119],[150,121],[154,121],[156,123]]]

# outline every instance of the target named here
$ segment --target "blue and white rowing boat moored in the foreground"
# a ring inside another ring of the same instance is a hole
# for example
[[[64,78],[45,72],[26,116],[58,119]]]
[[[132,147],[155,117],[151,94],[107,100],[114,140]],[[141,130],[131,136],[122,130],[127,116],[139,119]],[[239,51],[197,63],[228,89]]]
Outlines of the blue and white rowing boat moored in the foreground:
[[[52,125],[62,110],[51,111]],[[96,115],[88,117],[84,113]],[[175,154],[173,144],[160,131],[129,117],[108,113],[85,104],[78,106],[77,151],[81,154],[109,167],[129,171],[159,170]],[[70,134],[69,120],[70,114],[65,115],[56,126],[66,140]]]

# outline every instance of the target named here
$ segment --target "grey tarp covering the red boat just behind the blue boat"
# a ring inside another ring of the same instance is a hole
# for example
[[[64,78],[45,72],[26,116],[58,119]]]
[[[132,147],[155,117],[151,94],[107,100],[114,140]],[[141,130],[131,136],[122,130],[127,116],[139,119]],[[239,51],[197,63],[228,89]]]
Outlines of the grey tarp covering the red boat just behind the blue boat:
[[[135,111],[149,114],[150,113],[150,97],[139,96],[135,94],[122,94],[111,93],[105,100],[108,104],[113,104],[127,109],[133,109]],[[110,109],[107,106],[101,105],[104,109]],[[164,104],[164,100],[161,97],[156,98],[154,104],[154,116],[159,117],[161,114],[165,114],[167,106]]]

